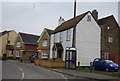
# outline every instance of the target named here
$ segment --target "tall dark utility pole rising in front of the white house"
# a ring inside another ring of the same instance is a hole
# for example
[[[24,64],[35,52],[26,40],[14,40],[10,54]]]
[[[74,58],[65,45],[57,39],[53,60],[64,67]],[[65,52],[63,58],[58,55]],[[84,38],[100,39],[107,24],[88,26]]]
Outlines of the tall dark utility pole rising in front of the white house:
[[[73,41],[72,41],[72,47],[76,47],[76,0],[74,1],[74,27],[73,27]]]

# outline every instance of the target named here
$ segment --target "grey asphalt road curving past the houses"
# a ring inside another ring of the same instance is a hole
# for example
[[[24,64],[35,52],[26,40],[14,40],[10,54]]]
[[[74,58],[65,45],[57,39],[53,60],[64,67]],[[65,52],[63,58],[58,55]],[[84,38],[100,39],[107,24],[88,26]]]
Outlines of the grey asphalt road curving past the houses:
[[[17,61],[2,62],[2,78],[7,81],[95,81],[80,77],[64,75],[53,72],[48,69],[34,66],[33,64],[25,64]]]

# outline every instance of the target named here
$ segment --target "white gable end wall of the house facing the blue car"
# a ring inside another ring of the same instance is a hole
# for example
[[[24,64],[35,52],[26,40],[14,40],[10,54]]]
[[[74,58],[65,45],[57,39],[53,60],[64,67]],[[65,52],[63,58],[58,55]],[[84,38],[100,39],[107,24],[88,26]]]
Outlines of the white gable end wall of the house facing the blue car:
[[[94,58],[100,57],[101,29],[92,16],[87,21],[87,15],[76,26],[77,66],[78,62],[80,66],[90,66]]]

